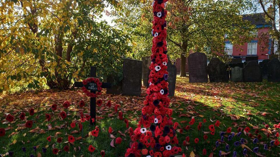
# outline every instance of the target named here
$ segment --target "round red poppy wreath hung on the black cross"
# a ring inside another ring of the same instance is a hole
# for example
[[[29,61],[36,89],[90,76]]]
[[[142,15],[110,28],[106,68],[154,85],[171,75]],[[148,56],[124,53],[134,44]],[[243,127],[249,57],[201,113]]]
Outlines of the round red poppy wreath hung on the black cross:
[[[102,90],[102,83],[99,81],[99,79],[97,78],[94,78],[94,77],[90,77],[88,79],[85,79],[83,80],[83,85],[87,85],[88,83],[90,82],[94,82],[97,84],[97,92],[96,94],[95,93],[91,93],[87,88],[85,87],[82,87],[82,91],[88,96],[88,97],[91,97],[91,98],[96,98],[98,95],[101,95],[101,90]]]

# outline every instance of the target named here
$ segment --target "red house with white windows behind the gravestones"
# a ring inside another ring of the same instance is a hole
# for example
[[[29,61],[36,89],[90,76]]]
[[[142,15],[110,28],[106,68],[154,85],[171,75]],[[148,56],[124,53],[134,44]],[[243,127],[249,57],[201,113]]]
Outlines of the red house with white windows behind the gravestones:
[[[272,25],[265,21],[265,13],[246,14],[242,15],[243,20],[250,21],[255,25],[256,31],[251,33],[255,36],[250,42],[245,42],[243,45],[232,45],[230,41],[225,41],[225,53],[231,58],[242,58],[245,61],[246,56],[258,56],[258,61],[269,58],[271,51],[271,38],[268,34]],[[227,35],[225,35],[225,38]],[[175,63],[177,72],[180,72],[181,59],[178,58]],[[186,61],[186,72],[188,72],[188,59]]]

